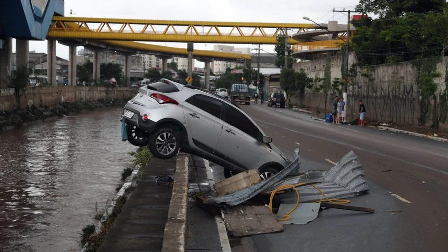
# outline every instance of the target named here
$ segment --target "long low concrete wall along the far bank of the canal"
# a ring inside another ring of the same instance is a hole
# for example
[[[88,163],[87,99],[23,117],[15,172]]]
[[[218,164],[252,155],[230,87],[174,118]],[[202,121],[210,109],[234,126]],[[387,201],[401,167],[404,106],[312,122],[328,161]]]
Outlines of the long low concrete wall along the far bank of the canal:
[[[54,106],[62,102],[95,102],[98,99],[125,99],[134,96],[137,87],[35,87],[28,88],[21,96],[21,108],[28,105]],[[0,111],[16,108],[14,89],[0,89]]]

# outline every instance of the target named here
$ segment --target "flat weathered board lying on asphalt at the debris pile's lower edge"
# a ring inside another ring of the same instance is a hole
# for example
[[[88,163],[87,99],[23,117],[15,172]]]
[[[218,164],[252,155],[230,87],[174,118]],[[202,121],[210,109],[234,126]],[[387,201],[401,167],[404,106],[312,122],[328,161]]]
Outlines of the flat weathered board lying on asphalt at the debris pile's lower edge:
[[[223,210],[227,232],[234,237],[283,231],[283,223],[266,206],[238,205]]]

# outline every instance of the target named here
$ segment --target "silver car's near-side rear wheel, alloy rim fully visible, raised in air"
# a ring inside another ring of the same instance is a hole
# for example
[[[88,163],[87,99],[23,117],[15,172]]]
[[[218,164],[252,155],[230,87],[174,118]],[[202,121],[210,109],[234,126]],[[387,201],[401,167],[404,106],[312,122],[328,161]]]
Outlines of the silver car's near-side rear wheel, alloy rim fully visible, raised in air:
[[[180,137],[171,128],[159,128],[149,137],[148,147],[151,153],[159,159],[170,159],[180,148]]]

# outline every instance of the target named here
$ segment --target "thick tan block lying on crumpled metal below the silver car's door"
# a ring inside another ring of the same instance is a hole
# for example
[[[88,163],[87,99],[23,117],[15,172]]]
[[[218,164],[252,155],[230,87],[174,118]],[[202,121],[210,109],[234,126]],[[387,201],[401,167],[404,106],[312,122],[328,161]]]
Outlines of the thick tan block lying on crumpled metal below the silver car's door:
[[[218,196],[224,196],[248,188],[259,182],[260,175],[258,174],[258,169],[251,169],[220,181],[214,187]]]

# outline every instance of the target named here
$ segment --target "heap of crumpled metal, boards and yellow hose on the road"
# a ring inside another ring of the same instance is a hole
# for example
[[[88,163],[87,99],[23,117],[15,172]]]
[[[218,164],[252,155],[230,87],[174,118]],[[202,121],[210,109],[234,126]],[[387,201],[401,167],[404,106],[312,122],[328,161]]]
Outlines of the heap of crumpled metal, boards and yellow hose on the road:
[[[375,212],[373,208],[346,205],[350,203],[346,198],[369,190],[353,151],[328,171],[301,171],[300,150],[296,149],[292,163],[272,177],[251,180],[258,174],[250,173],[216,183],[217,197],[196,198],[209,213],[221,208],[229,234],[235,237],[281,232],[283,224],[307,224],[318,217],[321,208]]]

